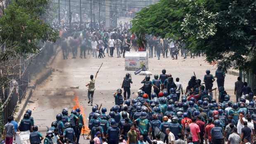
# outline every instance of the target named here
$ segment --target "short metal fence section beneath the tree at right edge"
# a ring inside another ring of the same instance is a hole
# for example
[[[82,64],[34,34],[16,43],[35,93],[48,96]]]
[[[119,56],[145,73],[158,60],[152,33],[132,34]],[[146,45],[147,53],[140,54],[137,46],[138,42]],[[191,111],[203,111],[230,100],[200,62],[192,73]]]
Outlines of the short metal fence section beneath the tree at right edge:
[[[248,86],[251,87],[251,90],[256,89],[256,75],[253,73],[244,73],[239,71],[239,76],[242,78],[243,82],[247,82]]]

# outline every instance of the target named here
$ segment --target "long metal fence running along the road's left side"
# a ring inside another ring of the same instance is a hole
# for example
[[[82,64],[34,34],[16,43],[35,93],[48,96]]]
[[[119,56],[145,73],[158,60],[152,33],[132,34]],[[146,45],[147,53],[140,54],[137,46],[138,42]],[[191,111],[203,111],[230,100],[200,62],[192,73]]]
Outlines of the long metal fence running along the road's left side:
[[[0,96],[3,98],[2,101],[5,101],[0,107],[4,123],[7,123],[7,117],[12,116],[14,113],[18,100],[21,102],[21,99],[25,97],[26,89],[31,78],[40,72],[41,69],[45,68],[46,63],[55,54],[53,45],[50,42],[42,47],[37,54],[32,54],[27,59],[20,59],[21,76],[19,80],[16,80],[18,83],[18,87],[16,87],[17,91],[15,87],[0,89]]]

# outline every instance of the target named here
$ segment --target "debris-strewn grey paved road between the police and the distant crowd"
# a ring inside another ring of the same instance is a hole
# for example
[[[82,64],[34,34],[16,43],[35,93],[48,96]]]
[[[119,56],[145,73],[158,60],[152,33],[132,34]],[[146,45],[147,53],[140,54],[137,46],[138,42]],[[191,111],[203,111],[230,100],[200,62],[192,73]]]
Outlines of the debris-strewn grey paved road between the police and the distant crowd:
[[[79,52],[78,52],[79,54]],[[35,124],[38,125],[39,131],[45,135],[46,126],[50,126],[52,121],[55,120],[57,113],[61,113],[64,108],[73,108],[75,102],[74,93],[78,95],[78,101],[85,110],[85,117],[91,111],[91,106],[87,104],[87,87],[90,75],[95,75],[96,71],[103,62],[102,68],[96,78],[96,90],[93,103],[102,103],[108,110],[114,105],[113,93],[116,89],[121,87],[122,79],[125,74],[133,73],[134,71],[124,70],[124,59],[116,58],[116,51],[114,51],[114,57],[105,57],[104,59],[92,59],[87,55],[87,59],[71,59],[71,53],[69,59],[62,59],[62,52],[57,54],[55,61],[51,65],[55,68],[47,80],[41,85],[36,87],[31,97],[31,102],[28,103],[26,109],[31,109],[32,116],[34,117]],[[107,55],[106,55],[107,56]],[[180,82],[183,87],[187,86],[188,80],[193,75],[193,71],[196,73],[197,78],[201,80],[204,77],[206,69],[210,69],[213,73],[216,68],[209,65],[204,61],[203,57],[196,57],[195,59],[183,59],[180,57],[178,60],[172,60],[171,57],[162,58],[157,60],[156,57],[149,59],[149,71],[153,74],[160,74],[161,70],[166,68],[167,73],[171,73],[174,77],[180,78]],[[133,84],[131,85],[131,92],[133,93],[131,98],[135,97],[137,90],[142,87],[140,81],[145,76],[134,76]],[[153,77],[153,76],[152,76]],[[151,78],[152,79],[152,78]],[[236,76],[227,75],[225,78],[225,88],[228,93],[231,94],[234,99],[233,88],[236,80]],[[70,86],[78,85],[79,89],[70,89]],[[214,87],[217,83],[214,83]],[[69,113],[70,113],[69,111]],[[109,112],[109,111],[107,111]],[[86,120],[86,125],[88,120]],[[81,144],[88,144],[88,140],[83,140],[81,136]]]

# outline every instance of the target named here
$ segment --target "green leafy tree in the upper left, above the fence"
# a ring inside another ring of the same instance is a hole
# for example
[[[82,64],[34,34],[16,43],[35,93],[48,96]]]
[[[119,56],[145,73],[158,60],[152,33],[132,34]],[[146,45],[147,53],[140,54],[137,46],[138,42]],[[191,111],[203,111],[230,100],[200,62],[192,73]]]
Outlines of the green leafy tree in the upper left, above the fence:
[[[4,9],[0,19],[0,42],[5,44],[5,51],[0,53],[2,61],[38,52],[39,41],[57,40],[57,30],[39,19],[47,6],[47,0],[18,0]]]

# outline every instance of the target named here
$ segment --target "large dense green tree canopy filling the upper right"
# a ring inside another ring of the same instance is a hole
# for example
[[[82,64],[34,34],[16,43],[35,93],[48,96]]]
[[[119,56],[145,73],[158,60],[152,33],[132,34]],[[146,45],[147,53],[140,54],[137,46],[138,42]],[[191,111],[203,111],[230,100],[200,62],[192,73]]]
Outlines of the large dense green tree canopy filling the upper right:
[[[256,70],[255,0],[160,0],[133,19],[139,41],[146,34],[182,40],[190,51],[201,50],[207,61],[225,68]]]

